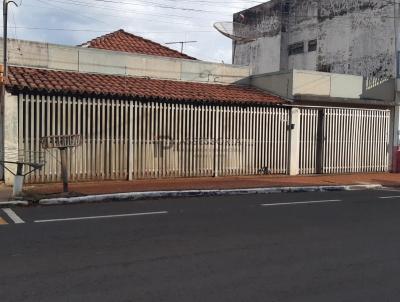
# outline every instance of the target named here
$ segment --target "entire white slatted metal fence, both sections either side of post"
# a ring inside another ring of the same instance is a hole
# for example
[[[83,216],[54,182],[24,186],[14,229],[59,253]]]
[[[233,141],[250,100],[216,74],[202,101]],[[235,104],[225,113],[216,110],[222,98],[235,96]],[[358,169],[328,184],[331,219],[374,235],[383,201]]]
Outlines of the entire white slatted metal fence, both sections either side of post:
[[[81,134],[70,179],[287,174],[290,109],[19,95],[19,148]],[[387,171],[390,112],[301,108],[300,174]],[[28,183],[60,181],[59,151]]]

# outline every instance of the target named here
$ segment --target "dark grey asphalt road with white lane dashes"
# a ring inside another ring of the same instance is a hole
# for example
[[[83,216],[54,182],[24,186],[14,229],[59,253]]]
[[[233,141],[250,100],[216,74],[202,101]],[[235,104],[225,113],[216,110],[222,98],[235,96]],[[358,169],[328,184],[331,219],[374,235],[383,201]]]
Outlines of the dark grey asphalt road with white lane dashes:
[[[2,302],[400,300],[400,191],[12,210]]]

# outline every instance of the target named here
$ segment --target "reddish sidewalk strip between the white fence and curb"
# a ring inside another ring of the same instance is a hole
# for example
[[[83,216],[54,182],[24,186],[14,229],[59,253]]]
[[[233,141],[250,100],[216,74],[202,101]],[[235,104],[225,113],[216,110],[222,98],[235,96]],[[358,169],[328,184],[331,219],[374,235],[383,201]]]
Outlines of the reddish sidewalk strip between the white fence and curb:
[[[220,190],[275,187],[339,186],[381,184],[400,187],[400,174],[371,173],[314,176],[241,176],[148,179],[134,181],[99,181],[71,183],[71,196],[100,195],[127,192]],[[35,198],[60,195],[62,184],[26,185],[25,194]]]

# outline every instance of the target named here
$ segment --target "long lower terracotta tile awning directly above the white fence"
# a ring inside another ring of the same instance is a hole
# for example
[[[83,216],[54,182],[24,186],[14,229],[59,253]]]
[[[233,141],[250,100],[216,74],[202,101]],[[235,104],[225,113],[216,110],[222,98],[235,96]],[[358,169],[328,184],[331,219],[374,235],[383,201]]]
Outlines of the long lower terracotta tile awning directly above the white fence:
[[[63,93],[241,104],[286,102],[282,98],[249,86],[156,80],[13,66],[9,68],[6,87],[7,90],[18,93]]]

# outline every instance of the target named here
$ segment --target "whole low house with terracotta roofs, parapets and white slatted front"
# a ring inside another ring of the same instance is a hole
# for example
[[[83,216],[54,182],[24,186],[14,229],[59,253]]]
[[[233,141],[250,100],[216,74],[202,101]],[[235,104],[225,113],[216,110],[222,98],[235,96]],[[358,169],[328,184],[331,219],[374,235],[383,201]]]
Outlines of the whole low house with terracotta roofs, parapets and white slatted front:
[[[249,67],[196,60],[122,30],[79,46],[10,40],[9,62],[2,160],[43,153],[43,137],[78,134],[73,181],[389,169],[389,110],[298,102],[356,99],[358,86],[343,83],[359,79],[253,77]],[[342,133],[349,125],[358,132]],[[26,182],[60,181],[57,152],[47,151]]]

